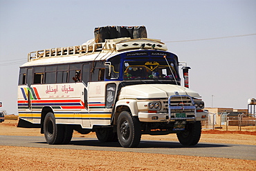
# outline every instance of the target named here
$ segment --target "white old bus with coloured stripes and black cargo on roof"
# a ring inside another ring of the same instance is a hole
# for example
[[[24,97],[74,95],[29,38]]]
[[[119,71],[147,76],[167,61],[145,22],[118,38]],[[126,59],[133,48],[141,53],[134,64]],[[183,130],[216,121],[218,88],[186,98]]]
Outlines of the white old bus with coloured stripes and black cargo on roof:
[[[20,128],[40,128],[48,144],[70,143],[73,132],[136,147],[142,134],[176,134],[196,145],[208,119],[201,96],[181,86],[176,54],[148,39],[145,26],[95,28],[80,46],[37,50],[20,66]]]

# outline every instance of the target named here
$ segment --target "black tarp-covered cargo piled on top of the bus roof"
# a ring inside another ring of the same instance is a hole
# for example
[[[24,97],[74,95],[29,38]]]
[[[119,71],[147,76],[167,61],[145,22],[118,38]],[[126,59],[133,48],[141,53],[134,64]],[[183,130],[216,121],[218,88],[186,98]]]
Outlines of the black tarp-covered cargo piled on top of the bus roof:
[[[147,38],[145,26],[105,26],[94,29],[96,43],[102,43],[105,39],[131,37],[131,39]]]

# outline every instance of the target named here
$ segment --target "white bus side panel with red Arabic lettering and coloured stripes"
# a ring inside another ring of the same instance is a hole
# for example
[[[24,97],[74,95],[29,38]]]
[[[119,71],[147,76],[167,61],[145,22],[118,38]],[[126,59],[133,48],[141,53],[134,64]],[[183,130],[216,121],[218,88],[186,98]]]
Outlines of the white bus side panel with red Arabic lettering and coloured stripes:
[[[57,123],[80,124],[89,127],[89,112],[84,105],[84,84],[61,83],[19,86],[19,117],[32,123],[41,123],[41,113],[53,110]]]

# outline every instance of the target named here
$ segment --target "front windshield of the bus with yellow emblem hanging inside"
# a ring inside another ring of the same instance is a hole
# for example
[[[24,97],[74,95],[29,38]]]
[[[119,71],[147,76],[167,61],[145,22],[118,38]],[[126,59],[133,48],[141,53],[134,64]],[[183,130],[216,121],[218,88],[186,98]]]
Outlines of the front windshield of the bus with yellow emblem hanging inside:
[[[179,78],[174,63],[166,61],[125,61],[124,63],[124,79],[158,79],[172,80]]]

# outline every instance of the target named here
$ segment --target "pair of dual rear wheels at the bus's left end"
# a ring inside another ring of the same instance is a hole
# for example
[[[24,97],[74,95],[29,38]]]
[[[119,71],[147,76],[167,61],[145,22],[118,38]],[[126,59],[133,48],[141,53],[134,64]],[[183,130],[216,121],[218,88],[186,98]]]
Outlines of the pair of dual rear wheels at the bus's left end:
[[[44,118],[44,137],[48,144],[66,144],[73,136],[73,128],[69,125],[56,124],[55,116],[48,112]]]

